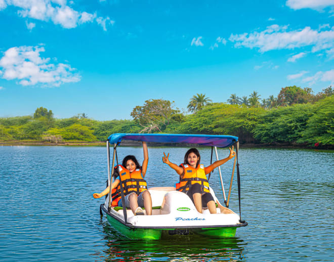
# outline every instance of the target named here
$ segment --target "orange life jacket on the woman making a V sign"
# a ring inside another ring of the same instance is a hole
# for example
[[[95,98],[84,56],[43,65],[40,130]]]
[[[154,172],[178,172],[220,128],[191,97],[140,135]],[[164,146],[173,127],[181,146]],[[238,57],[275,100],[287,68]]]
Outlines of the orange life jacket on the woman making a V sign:
[[[184,169],[183,179],[176,184],[176,190],[187,193],[190,186],[198,183],[202,193],[210,192],[209,185],[205,176],[204,165],[199,164],[197,168],[193,168],[187,164],[181,164]]]

